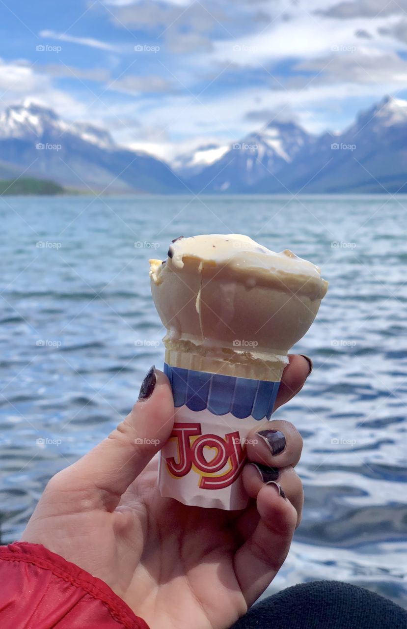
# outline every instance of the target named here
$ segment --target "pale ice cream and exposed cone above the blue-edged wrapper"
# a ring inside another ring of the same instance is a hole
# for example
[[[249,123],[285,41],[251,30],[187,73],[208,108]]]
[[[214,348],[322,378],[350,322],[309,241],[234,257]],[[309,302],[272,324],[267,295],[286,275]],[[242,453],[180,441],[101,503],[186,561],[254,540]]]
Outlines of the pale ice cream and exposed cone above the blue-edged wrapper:
[[[177,238],[150,260],[170,365],[275,381],[317,315],[328,282],[285,249],[240,234]]]

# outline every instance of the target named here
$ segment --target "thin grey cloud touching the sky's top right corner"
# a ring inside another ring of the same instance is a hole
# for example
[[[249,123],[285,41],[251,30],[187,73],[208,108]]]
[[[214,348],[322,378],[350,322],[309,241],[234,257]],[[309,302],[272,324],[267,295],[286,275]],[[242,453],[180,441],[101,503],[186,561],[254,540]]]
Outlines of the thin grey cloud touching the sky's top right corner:
[[[376,18],[395,13],[406,13],[407,0],[355,0],[354,2],[340,2],[327,9],[317,9],[316,14],[328,18]]]

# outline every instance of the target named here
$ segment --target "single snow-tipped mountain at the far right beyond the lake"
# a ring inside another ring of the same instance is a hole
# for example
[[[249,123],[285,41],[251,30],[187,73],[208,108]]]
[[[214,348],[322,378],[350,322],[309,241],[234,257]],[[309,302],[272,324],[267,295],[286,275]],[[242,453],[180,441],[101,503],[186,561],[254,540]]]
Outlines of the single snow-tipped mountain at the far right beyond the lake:
[[[339,134],[324,133],[258,192],[407,190],[407,101],[386,96]]]

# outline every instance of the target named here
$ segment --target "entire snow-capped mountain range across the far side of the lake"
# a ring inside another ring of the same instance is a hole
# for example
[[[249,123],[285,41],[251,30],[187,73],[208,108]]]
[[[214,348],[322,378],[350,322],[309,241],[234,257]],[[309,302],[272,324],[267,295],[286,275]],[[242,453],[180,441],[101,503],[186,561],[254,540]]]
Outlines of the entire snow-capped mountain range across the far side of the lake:
[[[231,145],[181,155],[173,170],[117,146],[106,130],[26,102],[0,113],[0,179],[23,173],[110,192],[407,192],[407,101],[387,96],[342,133],[313,136],[274,122]]]

